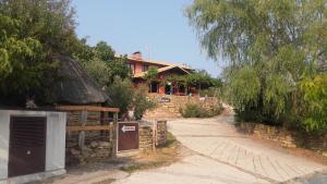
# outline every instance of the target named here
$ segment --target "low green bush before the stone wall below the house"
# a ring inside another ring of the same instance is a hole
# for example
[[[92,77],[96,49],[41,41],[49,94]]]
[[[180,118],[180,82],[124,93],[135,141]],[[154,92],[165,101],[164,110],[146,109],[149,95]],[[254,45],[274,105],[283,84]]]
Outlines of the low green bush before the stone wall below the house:
[[[183,118],[210,118],[220,114],[221,111],[221,105],[217,105],[210,110],[207,110],[198,105],[186,105],[185,109],[180,110]]]

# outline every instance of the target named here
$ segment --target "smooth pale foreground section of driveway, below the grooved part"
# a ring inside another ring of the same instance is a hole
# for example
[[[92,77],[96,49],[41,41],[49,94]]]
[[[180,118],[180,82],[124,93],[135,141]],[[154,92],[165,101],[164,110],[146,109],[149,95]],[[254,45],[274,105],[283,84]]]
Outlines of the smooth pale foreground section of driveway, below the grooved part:
[[[267,184],[269,182],[210,158],[194,155],[166,168],[133,173],[113,184]]]

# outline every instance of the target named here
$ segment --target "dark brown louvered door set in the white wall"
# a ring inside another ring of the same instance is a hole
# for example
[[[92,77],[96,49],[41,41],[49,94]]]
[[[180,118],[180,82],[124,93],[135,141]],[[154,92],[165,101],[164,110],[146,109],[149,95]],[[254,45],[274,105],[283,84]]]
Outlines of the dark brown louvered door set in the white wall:
[[[45,116],[11,116],[9,177],[45,171],[46,127]]]

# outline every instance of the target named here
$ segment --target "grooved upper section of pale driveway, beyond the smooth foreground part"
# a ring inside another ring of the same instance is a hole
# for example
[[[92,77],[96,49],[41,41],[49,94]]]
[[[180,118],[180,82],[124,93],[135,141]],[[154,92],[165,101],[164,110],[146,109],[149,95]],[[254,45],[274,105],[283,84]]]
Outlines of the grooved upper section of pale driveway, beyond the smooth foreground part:
[[[232,115],[177,120],[170,123],[170,130],[184,146],[198,155],[269,182],[286,182],[326,169],[323,164],[242,136],[232,123]]]

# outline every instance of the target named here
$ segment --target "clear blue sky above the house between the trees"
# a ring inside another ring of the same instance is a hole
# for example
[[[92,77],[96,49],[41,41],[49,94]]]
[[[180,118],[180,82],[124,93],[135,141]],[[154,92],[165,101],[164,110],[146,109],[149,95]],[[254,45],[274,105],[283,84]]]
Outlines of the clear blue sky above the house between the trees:
[[[221,68],[201,51],[184,16],[192,0],[73,0],[77,35],[94,46],[107,41],[118,53],[141,51],[146,59],[186,63],[218,76]]]

